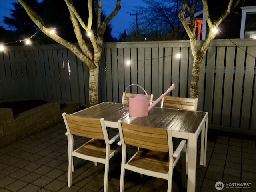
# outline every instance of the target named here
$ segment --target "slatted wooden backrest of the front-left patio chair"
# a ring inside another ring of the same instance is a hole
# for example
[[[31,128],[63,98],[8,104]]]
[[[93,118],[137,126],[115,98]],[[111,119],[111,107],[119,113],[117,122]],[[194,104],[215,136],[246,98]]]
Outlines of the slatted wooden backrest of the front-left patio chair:
[[[100,119],[84,118],[74,115],[63,114],[68,134],[74,134],[78,136],[102,139],[104,140],[104,134]]]

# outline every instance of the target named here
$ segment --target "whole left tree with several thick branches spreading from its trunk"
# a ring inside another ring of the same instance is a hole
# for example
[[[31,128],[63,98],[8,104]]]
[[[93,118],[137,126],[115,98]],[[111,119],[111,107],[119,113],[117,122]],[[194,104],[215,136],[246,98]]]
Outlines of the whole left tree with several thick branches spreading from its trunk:
[[[76,35],[78,45],[80,47],[77,48],[74,44],[68,42],[67,40],[61,38],[57,34],[52,34],[51,29],[47,28],[44,24],[44,21],[39,16],[37,12],[35,12],[30,6],[28,6],[23,0],[18,0],[18,2],[24,7],[28,16],[32,19],[32,21],[36,24],[36,26],[48,37],[55,40],[57,43],[65,46],[70,51],[72,51],[84,64],[86,64],[89,68],[89,101],[90,106],[98,104],[98,79],[99,79],[99,65],[100,58],[102,54],[102,44],[103,44],[103,36],[106,30],[106,27],[110,23],[110,21],[118,14],[121,6],[121,0],[116,0],[116,7],[112,11],[112,13],[103,21],[101,20],[102,16],[102,0],[88,0],[88,21],[85,23],[82,18],[79,16],[74,3],[72,0],[65,0],[65,3],[68,7],[68,11],[70,13],[70,20],[73,24],[74,33]],[[97,14],[97,31],[92,31],[92,15],[93,8]],[[52,18],[54,19],[54,18]],[[91,33],[89,36],[90,42],[93,47],[93,51],[91,51],[86,45],[85,39],[82,36],[82,30],[84,29],[87,33]]]

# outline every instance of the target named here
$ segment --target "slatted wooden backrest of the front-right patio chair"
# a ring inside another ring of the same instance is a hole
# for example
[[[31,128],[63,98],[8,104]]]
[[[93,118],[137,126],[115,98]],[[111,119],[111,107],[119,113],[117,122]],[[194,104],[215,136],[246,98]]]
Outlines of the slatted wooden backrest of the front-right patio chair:
[[[166,129],[138,126],[124,122],[119,123],[122,127],[120,138],[123,137],[125,144],[149,150],[173,153],[172,146],[170,147],[170,150],[168,147],[168,135]]]

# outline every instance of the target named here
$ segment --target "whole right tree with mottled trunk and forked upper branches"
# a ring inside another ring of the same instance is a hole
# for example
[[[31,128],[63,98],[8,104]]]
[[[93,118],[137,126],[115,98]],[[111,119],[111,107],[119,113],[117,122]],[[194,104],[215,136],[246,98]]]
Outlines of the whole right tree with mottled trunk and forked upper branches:
[[[198,0],[194,0],[192,5],[189,5],[187,0],[183,0],[182,1],[182,10],[178,15],[180,18],[180,21],[182,22],[182,25],[184,26],[184,28],[189,36],[190,47],[191,47],[192,55],[194,57],[193,69],[192,69],[192,79],[191,79],[191,85],[190,85],[190,97],[191,98],[198,98],[198,83],[199,83],[199,75],[200,75],[202,59],[206,54],[206,51],[208,49],[210,42],[216,36],[216,29],[218,28],[220,23],[230,14],[230,12],[234,8],[236,8],[236,6],[239,3],[239,0],[230,0],[225,12],[214,22],[210,18],[207,0],[202,0],[203,6],[204,6],[204,12],[206,15],[206,22],[209,27],[209,33],[206,36],[206,39],[202,43],[201,47],[196,46],[197,38],[196,38],[196,32],[194,30],[194,27],[195,27],[194,10],[196,8],[197,2],[198,2]],[[186,22],[186,18],[185,18],[186,11],[189,12],[190,21],[191,21],[190,25]]]

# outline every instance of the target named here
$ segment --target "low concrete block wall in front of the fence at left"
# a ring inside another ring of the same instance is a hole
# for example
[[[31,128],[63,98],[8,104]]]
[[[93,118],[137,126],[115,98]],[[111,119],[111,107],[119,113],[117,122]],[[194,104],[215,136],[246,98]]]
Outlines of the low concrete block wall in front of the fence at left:
[[[15,118],[12,109],[0,108],[0,146],[37,134],[63,121],[63,112],[71,114],[80,108],[80,104],[69,104],[61,110],[59,103],[47,103],[22,112]]]

